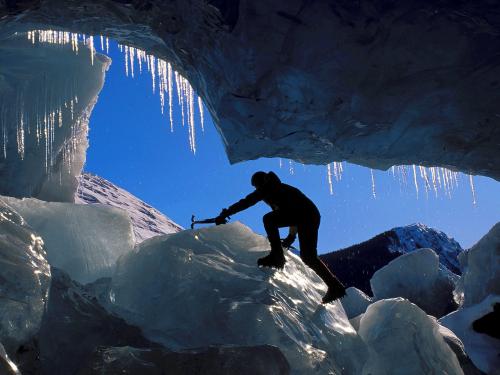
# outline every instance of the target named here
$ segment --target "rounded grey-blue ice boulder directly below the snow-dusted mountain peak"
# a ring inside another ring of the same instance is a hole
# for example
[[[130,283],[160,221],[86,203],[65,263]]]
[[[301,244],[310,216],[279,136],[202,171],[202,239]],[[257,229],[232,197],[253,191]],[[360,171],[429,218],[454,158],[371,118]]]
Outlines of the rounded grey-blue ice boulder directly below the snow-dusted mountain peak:
[[[375,300],[407,298],[428,314],[441,317],[456,308],[453,290],[457,276],[439,266],[432,249],[404,254],[373,275]]]

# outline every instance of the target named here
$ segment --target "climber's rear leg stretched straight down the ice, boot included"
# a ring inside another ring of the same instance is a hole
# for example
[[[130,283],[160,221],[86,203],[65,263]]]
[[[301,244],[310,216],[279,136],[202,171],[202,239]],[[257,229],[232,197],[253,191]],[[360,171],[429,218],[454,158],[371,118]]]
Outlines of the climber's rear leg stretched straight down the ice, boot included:
[[[328,286],[328,293],[323,301],[330,302],[329,300],[331,300],[332,293],[343,295],[345,288],[342,283],[335,277],[335,275],[330,271],[330,269],[325,265],[325,263],[323,263],[323,261],[318,257],[317,245],[319,222],[319,217],[312,217],[310,220],[304,221],[304,223],[299,224],[298,233],[300,257],[302,261],[307,266],[309,266]]]

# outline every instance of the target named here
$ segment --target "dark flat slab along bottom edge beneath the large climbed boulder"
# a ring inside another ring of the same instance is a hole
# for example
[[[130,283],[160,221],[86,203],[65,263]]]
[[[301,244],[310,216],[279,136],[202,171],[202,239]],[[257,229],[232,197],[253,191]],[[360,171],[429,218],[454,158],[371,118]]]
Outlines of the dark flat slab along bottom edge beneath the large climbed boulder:
[[[276,347],[210,347],[172,352],[130,346],[99,348],[78,375],[218,374],[286,375],[290,366]]]

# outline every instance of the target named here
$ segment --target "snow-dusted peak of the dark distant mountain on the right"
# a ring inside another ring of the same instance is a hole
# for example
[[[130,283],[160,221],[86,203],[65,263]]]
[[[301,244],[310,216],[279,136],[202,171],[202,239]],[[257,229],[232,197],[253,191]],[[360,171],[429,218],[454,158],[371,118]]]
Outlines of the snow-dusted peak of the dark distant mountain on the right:
[[[395,238],[389,250],[405,254],[418,249],[432,249],[439,255],[439,262],[442,265],[451,272],[460,273],[458,256],[463,249],[446,233],[420,223],[393,228],[391,231],[394,232]]]

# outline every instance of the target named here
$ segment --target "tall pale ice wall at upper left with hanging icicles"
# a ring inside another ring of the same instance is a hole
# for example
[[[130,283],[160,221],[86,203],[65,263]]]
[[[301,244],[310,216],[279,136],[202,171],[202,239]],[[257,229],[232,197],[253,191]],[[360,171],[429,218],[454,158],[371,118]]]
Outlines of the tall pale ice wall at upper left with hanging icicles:
[[[70,44],[0,36],[0,195],[73,202],[110,62],[96,54],[91,64],[83,44],[75,54]]]

